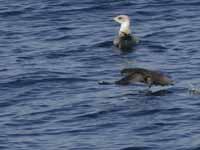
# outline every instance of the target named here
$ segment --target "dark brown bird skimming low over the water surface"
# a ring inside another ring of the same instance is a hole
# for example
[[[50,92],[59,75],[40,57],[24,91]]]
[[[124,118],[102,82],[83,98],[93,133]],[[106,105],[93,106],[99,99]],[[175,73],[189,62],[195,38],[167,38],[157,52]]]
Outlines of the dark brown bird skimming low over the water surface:
[[[149,87],[152,85],[173,85],[173,80],[159,71],[143,68],[126,68],[121,71],[121,74],[125,77],[116,81],[116,84],[128,85],[130,83],[141,82],[147,84]]]

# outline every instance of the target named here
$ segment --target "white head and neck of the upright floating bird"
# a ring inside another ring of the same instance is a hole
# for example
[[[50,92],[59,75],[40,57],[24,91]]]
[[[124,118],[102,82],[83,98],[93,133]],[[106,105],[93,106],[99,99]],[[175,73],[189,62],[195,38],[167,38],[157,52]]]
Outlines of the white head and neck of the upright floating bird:
[[[114,17],[114,20],[121,24],[119,34],[121,33],[131,34],[129,16],[119,15],[119,16]]]

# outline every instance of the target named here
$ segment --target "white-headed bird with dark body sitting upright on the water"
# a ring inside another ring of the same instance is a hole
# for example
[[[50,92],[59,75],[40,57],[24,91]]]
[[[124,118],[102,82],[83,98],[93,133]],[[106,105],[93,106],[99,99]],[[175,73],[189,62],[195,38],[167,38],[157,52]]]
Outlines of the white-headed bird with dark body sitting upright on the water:
[[[127,15],[119,15],[114,20],[120,23],[121,27],[113,44],[121,50],[131,50],[139,40],[131,34],[129,17]]]

